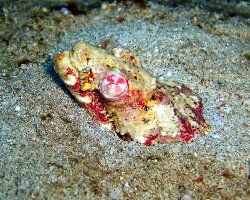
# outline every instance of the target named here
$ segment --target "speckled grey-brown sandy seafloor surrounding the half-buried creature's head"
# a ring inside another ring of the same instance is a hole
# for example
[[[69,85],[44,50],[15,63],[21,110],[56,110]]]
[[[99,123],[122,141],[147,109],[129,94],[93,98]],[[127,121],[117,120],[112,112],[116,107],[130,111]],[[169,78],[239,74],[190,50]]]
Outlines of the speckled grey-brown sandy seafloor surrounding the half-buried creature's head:
[[[43,12],[0,47],[0,199],[249,198],[249,19],[152,2]],[[150,74],[186,84],[212,131],[147,147],[101,128],[53,70],[81,40],[125,46]]]

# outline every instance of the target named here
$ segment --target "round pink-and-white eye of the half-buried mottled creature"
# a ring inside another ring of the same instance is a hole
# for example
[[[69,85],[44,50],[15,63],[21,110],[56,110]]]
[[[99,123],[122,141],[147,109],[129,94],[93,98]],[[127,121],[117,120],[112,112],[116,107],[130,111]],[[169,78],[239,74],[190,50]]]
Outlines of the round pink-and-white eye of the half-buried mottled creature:
[[[121,74],[106,75],[99,84],[100,93],[109,101],[116,101],[128,93],[128,81]]]

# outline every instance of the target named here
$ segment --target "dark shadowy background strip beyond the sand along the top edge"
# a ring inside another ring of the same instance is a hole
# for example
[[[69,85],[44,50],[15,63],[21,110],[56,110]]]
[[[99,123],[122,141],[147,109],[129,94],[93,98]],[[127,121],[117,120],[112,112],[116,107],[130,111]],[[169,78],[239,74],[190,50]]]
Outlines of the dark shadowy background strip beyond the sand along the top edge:
[[[249,1],[242,1],[242,0],[149,0],[154,1],[157,3],[177,7],[179,5],[183,6],[199,6],[211,11],[219,11],[219,12],[226,12],[230,16],[243,16],[249,17],[250,16],[250,8],[249,8]],[[4,7],[8,6],[9,4],[19,3],[19,2],[26,2],[29,6],[46,6],[49,8],[59,9],[61,7],[67,7],[72,13],[75,14],[84,14],[91,8],[97,8],[102,5],[103,2],[113,3],[113,2],[136,2],[141,6],[144,6],[147,3],[147,0],[45,0],[45,1],[18,1],[18,0],[1,0],[1,7],[0,7],[0,14],[2,16],[5,15]]]

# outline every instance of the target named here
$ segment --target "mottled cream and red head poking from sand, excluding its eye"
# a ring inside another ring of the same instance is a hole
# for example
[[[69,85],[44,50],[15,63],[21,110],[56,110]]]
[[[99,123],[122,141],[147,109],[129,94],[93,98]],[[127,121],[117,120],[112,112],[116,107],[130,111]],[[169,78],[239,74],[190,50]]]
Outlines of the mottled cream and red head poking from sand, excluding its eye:
[[[55,70],[102,125],[140,143],[189,142],[208,129],[197,95],[182,84],[156,80],[126,49],[107,51],[80,42],[57,55]],[[115,101],[105,99],[99,88],[110,73],[119,73],[129,85],[127,94]]]

